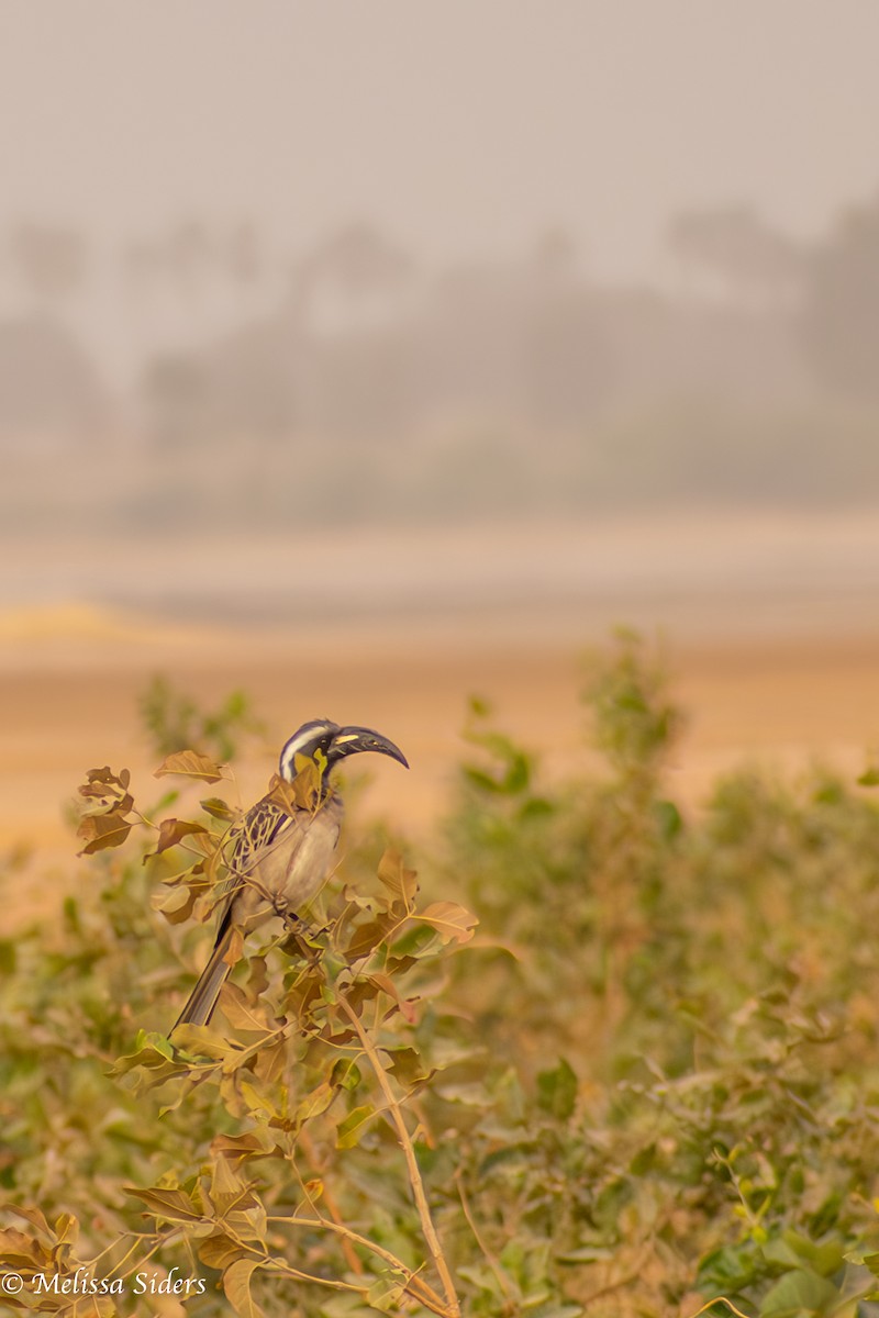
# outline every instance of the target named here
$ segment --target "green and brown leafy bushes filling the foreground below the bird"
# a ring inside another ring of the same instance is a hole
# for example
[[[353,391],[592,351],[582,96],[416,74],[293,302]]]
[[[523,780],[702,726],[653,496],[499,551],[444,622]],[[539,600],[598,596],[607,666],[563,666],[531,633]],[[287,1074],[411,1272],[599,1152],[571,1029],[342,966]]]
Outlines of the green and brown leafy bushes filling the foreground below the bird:
[[[547,783],[474,701],[423,891],[354,826],[300,931],[252,936],[173,1044],[235,738],[186,706],[200,742],[149,805],[88,775],[78,895],[0,944],[1,1265],[124,1296],[9,1311],[874,1313],[870,791],[742,770],[688,813],[651,656],[622,637],[586,688],[600,771]]]

